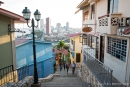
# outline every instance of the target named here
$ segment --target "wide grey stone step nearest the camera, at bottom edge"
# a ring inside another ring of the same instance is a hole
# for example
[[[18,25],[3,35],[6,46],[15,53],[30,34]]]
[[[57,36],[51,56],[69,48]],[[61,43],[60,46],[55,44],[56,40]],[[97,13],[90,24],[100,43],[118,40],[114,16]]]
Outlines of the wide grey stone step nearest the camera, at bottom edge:
[[[91,87],[78,77],[55,77],[51,82],[42,83],[42,87]]]

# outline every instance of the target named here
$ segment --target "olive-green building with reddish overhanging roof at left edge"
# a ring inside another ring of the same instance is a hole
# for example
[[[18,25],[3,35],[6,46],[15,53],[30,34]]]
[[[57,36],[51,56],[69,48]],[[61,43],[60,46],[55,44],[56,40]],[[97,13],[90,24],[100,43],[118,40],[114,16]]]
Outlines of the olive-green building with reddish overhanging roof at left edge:
[[[1,4],[3,2],[0,1],[0,6]],[[15,23],[25,22],[22,16],[0,8],[0,86],[7,83],[7,74],[16,69],[15,34],[11,31],[15,28]],[[12,79],[10,77],[8,81]]]

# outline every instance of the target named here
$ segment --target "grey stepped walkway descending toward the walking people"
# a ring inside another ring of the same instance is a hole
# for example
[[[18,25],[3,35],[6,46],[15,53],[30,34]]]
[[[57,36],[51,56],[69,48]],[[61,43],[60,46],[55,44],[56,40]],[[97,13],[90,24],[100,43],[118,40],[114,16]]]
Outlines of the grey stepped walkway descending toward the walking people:
[[[72,68],[69,68],[69,72],[67,73],[66,69],[60,71],[59,67],[57,67],[56,74],[60,74],[60,77],[55,77],[50,82],[42,83],[42,87],[91,87],[89,86],[90,84],[82,82],[77,77],[77,69],[72,74]]]

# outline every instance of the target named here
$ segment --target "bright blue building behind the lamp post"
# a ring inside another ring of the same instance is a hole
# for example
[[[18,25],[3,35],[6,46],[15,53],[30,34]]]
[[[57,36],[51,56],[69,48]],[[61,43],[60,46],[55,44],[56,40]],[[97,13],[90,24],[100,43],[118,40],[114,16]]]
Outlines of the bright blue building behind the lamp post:
[[[43,78],[54,73],[55,57],[52,54],[52,43],[36,41],[36,61],[38,77]],[[16,67],[29,66],[29,75],[33,76],[32,40],[16,39]]]

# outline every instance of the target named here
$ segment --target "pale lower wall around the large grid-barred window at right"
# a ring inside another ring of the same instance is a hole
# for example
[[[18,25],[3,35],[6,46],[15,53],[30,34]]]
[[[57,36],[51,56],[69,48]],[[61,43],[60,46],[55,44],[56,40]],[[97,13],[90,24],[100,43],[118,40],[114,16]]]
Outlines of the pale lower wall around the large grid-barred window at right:
[[[112,35],[111,35],[112,36]],[[127,39],[127,43],[129,43],[129,39],[126,37],[120,37],[120,36],[113,36],[114,38],[124,38]],[[119,60],[118,58],[115,58],[111,54],[107,53],[107,36],[105,36],[105,52],[104,52],[104,64],[107,65],[109,68],[113,70],[113,76],[119,80],[120,82],[125,82],[125,75],[126,75],[126,63],[128,57],[128,49],[126,54],[126,62],[123,62]],[[129,45],[127,45],[129,47]]]

